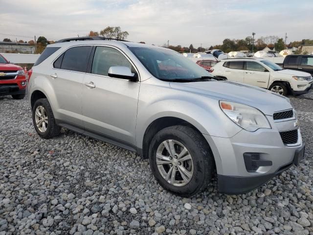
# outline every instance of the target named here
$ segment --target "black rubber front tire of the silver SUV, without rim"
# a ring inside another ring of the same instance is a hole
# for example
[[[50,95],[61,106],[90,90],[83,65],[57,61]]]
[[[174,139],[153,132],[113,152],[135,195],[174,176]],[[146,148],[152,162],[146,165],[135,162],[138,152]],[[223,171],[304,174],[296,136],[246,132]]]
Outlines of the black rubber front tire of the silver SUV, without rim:
[[[166,140],[179,141],[191,155],[193,175],[189,183],[184,186],[174,186],[168,183],[156,165],[157,148]],[[200,133],[188,126],[171,126],[159,131],[150,144],[149,163],[157,182],[166,190],[183,197],[190,197],[206,188],[211,181],[214,169],[213,156],[208,143]]]

